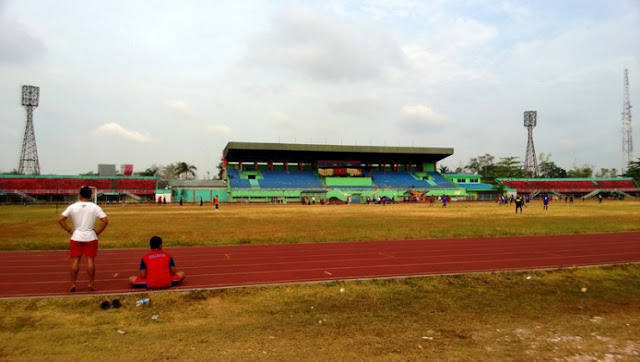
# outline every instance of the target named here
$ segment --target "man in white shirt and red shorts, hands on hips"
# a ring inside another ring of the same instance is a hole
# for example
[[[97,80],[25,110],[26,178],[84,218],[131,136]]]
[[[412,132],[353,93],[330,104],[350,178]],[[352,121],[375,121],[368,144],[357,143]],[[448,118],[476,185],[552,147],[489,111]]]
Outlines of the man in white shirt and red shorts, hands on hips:
[[[97,290],[94,285],[96,278],[94,259],[98,253],[98,235],[107,227],[109,219],[100,206],[89,200],[91,200],[91,189],[84,186],[80,189],[80,201],[67,207],[58,218],[58,224],[70,235],[71,288],[69,292],[76,291],[76,279],[82,255],[87,257],[89,290]],[[69,217],[73,220],[73,229],[67,224]],[[100,219],[100,226],[97,229],[95,228],[96,219]]]

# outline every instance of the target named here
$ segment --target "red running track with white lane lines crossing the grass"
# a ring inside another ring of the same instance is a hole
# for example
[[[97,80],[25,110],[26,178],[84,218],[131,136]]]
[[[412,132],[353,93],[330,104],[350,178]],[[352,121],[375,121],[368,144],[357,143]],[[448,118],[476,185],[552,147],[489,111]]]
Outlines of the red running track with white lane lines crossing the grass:
[[[165,248],[187,277],[174,289],[551,269],[640,262],[640,232]],[[100,250],[96,287],[68,293],[68,251],[0,252],[0,298],[136,293],[144,249]]]

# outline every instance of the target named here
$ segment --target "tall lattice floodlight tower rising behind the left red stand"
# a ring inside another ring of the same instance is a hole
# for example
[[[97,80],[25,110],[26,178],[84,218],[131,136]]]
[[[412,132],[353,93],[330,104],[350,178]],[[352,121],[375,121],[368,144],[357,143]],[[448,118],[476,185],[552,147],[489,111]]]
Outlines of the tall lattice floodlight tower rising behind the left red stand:
[[[22,139],[22,152],[20,153],[19,174],[40,174],[40,162],[38,161],[38,148],[36,147],[36,135],[33,132],[33,110],[38,107],[40,87],[32,85],[22,86],[22,105],[27,109],[27,126],[24,129]]]

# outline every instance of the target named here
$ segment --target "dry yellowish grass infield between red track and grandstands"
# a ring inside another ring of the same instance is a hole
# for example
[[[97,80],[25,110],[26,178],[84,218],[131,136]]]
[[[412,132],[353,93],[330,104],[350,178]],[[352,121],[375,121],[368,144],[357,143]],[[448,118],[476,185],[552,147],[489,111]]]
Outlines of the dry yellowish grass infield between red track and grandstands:
[[[552,235],[640,230],[640,202],[539,201],[516,215],[514,207],[457,202],[447,208],[396,205],[107,206],[110,224],[101,248],[139,247],[151,235],[169,246],[276,244],[345,240]],[[56,224],[62,208],[0,207],[0,250],[66,249]]]

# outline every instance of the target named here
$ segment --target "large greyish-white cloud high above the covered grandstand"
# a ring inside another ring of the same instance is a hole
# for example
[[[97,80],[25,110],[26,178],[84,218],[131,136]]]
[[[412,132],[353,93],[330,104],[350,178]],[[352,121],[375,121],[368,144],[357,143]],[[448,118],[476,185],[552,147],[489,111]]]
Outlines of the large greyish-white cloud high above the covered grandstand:
[[[385,30],[372,23],[348,23],[291,7],[254,38],[249,65],[279,69],[312,80],[379,79],[404,65],[403,54]]]

